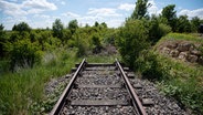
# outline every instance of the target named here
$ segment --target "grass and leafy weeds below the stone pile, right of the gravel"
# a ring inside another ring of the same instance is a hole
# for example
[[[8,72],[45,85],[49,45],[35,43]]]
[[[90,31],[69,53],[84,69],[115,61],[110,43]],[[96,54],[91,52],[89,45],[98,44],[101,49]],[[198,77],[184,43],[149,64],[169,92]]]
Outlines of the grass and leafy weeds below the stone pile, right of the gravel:
[[[178,100],[182,107],[203,113],[203,66],[191,66],[171,59],[162,60],[162,64],[170,66],[170,77],[161,81],[160,91]]]

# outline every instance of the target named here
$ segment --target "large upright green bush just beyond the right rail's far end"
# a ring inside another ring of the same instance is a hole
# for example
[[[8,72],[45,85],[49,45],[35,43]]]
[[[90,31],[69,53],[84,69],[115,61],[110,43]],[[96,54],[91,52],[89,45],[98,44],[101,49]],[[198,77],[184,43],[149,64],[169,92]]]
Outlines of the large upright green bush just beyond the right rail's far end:
[[[148,31],[141,20],[129,20],[120,28],[117,36],[117,45],[122,61],[133,67],[139,53],[149,48]]]

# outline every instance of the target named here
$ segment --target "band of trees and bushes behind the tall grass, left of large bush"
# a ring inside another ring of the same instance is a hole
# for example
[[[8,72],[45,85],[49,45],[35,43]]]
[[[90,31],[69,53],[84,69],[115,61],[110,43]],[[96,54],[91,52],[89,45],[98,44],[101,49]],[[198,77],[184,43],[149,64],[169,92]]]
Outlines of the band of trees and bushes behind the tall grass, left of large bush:
[[[77,56],[99,53],[101,40],[108,41],[113,31],[105,22],[78,27],[77,20],[72,20],[65,27],[60,19],[53,22],[52,29],[32,29],[26,22],[20,22],[13,25],[12,31],[6,31],[0,24],[1,64],[11,71],[18,66],[32,67],[41,63],[45,52],[61,46],[77,49]]]

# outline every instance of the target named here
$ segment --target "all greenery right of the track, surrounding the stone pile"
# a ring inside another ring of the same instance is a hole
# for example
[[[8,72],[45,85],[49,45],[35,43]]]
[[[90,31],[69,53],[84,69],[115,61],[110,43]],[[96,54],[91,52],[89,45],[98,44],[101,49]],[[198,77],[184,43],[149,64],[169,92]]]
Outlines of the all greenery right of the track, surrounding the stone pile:
[[[156,51],[158,44],[170,40],[201,44],[202,51],[203,39],[189,33],[196,32],[202,20],[193,18],[189,21],[186,15],[178,18],[174,4],[163,8],[159,17],[146,17],[149,7],[146,2],[138,0],[131,18],[119,29],[116,43],[122,61],[143,79],[158,83],[160,91],[174,97],[182,107],[203,113],[202,65],[175,61]],[[184,34],[169,33],[171,31]]]

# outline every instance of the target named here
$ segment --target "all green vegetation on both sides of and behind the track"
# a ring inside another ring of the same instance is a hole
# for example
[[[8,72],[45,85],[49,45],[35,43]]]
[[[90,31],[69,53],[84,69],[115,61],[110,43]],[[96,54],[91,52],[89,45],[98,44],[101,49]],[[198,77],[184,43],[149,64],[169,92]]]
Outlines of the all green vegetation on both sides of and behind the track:
[[[148,0],[136,4],[118,29],[105,22],[79,27],[77,20],[65,27],[60,19],[52,29],[32,29],[21,22],[6,31],[0,24],[0,113],[49,112],[64,86],[58,86],[57,95],[46,97],[45,83],[68,73],[83,58],[94,63],[113,63],[118,58],[142,77],[158,83],[163,94],[183,107],[203,113],[202,65],[175,61],[156,51],[162,42],[183,40],[200,44],[203,55],[203,39],[196,35],[203,20],[177,17],[175,4],[163,8],[160,15],[149,15]]]

